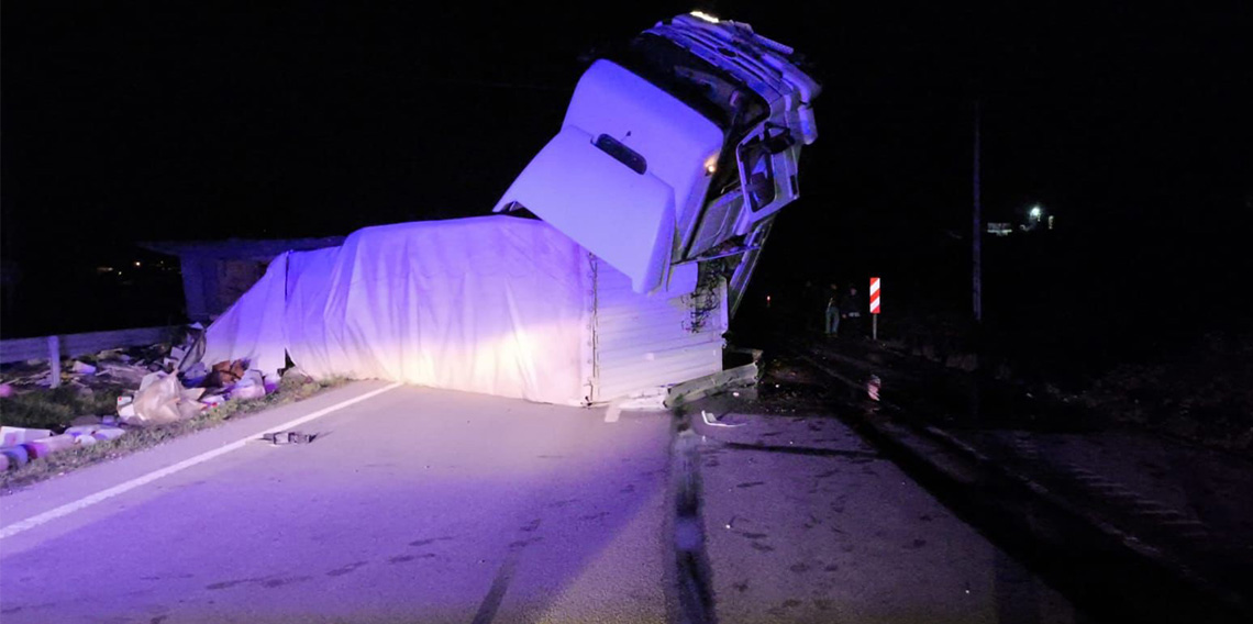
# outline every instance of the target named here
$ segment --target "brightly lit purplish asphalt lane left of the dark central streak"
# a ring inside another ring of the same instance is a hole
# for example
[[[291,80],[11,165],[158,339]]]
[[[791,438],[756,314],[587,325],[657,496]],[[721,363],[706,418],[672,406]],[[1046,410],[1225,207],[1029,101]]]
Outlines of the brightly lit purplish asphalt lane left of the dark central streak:
[[[317,407],[302,405],[272,420]],[[0,620],[668,619],[668,415],[398,387],[302,429],[322,436],[249,444],[5,538]],[[110,470],[8,496],[3,524]]]

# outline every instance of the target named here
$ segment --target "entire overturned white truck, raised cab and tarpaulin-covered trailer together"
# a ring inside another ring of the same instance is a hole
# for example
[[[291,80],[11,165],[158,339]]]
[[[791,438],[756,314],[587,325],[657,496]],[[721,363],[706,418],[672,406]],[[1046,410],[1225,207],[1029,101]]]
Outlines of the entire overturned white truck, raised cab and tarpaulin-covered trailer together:
[[[568,405],[720,371],[817,138],[818,85],[792,58],[744,24],[658,24],[583,74],[505,214],[284,253],[208,328],[204,360]]]

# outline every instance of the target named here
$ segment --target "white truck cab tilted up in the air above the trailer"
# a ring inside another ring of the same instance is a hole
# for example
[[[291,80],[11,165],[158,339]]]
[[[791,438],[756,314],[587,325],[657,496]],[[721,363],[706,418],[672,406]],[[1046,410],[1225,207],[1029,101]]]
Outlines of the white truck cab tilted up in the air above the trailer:
[[[819,88],[792,56],[747,24],[659,23],[588,68],[560,132],[495,212],[526,208],[639,293],[697,263],[727,279],[734,313],[774,216],[799,197],[801,147],[817,139]]]

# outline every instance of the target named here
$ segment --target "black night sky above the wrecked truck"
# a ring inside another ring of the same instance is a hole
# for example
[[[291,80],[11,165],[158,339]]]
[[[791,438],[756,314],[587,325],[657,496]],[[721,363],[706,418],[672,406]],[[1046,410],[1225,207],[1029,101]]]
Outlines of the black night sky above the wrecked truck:
[[[803,51],[824,88],[763,287],[873,272],[960,294],[980,100],[987,218],[1058,218],[1030,261],[1055,264],[1049,292],[1090,277],[1185,315],[1250,283],[1253,24],[1139,5],[6,1],[4,332],[79,328],[48,308],[137,241],[482,214],[598,48],[695,8]]]

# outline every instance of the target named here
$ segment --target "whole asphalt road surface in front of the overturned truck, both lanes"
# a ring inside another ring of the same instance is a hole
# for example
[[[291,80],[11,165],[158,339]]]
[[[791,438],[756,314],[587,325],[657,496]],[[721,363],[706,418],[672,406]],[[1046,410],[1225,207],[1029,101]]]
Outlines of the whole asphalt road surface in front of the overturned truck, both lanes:
[[[252,441],[39,521],[383,387],[0,497],[0,621],[683,621],[683,526],[700,526],[688,546],[707,564],[707,620],[1076,620],[822,416],[729,415],[743,426],[703,426],[672,452],[669,413],[605,422],[604,410],[402,386],[302,425],[312,444]],[[700,484],[694,523],[677,521],[682,482]]]

